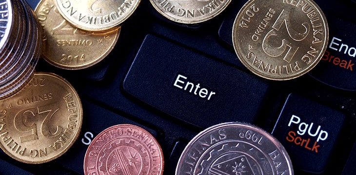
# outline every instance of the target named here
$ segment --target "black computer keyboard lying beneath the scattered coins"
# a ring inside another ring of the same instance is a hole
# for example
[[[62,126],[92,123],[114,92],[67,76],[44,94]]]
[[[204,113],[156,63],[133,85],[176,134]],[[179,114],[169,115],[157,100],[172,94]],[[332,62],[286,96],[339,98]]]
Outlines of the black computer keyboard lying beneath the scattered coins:
[[[27,1],[33,9],[39,2]],[[174,175],[185,146],[200,131],[244,122],[282,143],[296,175],[355,175],[356,1],[315,0],[328,20],[327,50],[313,70],[287,81],[260,78],[239,61],[231,35],[245,2],[233,0],[203,23],[179,24],[142,0],[98,64],[61,70],[40,59],[36,71],[62,76],[79,93],[79,139],[42,164],[21,163],[0,151],[0,174],[84,175],[84,155],[94,137],[127,123],[158,140],[163,175]],[[185,88],[187,83],[192,86]]]

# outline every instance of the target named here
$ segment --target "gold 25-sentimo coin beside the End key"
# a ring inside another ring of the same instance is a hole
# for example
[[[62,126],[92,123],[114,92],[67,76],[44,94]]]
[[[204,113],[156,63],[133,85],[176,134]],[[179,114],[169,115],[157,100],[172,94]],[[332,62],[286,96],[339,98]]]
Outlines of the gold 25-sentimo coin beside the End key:
[[[328,35],[326,18],[313,0],[249,0],[233,27],[240,61],[272,80],[293,79],[313,69]]]

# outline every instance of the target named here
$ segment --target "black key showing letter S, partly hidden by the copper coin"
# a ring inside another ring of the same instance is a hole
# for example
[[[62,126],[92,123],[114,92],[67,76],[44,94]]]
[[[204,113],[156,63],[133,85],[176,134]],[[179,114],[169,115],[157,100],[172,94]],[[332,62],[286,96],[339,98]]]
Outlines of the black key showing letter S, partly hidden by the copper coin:
[[[134,124],[146,129],[153,136],[157,137],[157,132],[152,129],[83,99],[81,99],[81,101],[83,104],[83,114],[85,115],[81,134],[74,145],[64,155],[56,159],[56,161],[72,171],[83,174],[84,156],[88,145],[95,136],[110,126],[116,124]]]

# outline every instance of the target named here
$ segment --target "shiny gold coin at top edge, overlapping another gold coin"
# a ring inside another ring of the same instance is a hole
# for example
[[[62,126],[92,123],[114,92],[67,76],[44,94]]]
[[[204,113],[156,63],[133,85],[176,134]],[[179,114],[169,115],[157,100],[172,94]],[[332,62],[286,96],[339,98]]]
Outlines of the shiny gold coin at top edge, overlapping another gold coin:
[[[59,13],[86,31],[105,31],[118,26],[136,10],[140,0],[56,0]]]

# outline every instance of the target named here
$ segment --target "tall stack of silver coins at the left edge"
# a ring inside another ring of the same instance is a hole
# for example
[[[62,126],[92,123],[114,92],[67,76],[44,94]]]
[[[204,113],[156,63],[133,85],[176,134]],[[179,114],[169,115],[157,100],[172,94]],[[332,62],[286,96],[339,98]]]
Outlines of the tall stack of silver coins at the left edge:
[[[0,0],[0,99],[28,83],[40,57],[40,32],[25,0]]]

